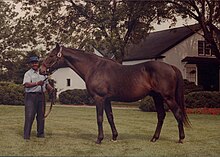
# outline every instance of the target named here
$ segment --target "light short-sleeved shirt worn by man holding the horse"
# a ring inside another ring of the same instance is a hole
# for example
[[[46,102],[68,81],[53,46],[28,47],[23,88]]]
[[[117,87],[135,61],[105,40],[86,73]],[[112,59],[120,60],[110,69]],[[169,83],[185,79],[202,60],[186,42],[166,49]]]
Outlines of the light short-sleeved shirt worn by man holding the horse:
[[[38,81],[45,81],[47,77],[44,75],[40,75],[39,71],[35,71],[33,69],[28,70],[25,74],[24,74],[24,79],[23,79],[23,85],[25,83],[31,83],[31,82],[38,82]],[[43,92],[46,91],[46,84],[48,83],[48,81],[46,80],[44,85],[43,85]],[[41,86],[34,86],[31,88],[25,88],[25,92],[26,93],[30,93],[30,92],[42,92],[41,91]]]

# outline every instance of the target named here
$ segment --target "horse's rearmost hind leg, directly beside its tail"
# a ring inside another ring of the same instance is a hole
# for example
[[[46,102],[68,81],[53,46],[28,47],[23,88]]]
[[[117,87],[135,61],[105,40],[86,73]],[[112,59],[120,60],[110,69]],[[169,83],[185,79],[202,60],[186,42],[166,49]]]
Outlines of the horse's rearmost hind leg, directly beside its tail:
[[[174,117],[177,120],[178,123],[178,129],[179,129],[179,143],[183,143],[183,139],[185,138],[184,128],[183,128],[183,118],[182,118],[182,111],[180,107],[178,106],[177,102],[174,98],[168,98],[165,99],[167,105],[173,112]]]

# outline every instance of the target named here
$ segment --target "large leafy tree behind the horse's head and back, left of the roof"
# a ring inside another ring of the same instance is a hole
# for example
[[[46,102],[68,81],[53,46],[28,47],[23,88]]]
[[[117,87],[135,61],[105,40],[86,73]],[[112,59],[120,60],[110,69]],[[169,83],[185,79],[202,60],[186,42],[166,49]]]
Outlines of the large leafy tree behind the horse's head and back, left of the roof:
[[[137,43],[153,29],[152,22],[173,16],[166,5],[153,0],[15,0],[15,3],[22,4],[26,12],[16,27],[26,33],[20,36],[29,46],[43,43],[50,48],[54,41],[80,49],[93,45],[107,49],[119,62],[128,44]]]

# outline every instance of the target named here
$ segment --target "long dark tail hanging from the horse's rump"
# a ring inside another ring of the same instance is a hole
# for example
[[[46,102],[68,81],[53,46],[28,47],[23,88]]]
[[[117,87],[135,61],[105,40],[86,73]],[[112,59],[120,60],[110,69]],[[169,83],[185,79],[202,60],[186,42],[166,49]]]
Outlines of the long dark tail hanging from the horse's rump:
[[[189,121],[189,118],[186,114],[186,107],[184,103],[184,81],[183,81],[183,76],[180,72],[179,69],[177,69],[175,66],[172,66],[177,77],[177,83],[176,83],[176,91],[175,91],[175,99],[177,104],[179,105],[181,111],[182,111],[182,118],[183,118],[183,123],[186,127],[191,127],[191,123]]]

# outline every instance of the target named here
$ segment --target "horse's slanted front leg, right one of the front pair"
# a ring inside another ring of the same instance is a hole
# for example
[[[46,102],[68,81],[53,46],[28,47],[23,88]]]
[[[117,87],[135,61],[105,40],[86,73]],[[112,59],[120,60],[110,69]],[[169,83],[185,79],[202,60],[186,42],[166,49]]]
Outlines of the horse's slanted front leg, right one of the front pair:
[[[117,137],[118,137],[118,132],[117,132],[116,127],[115,127],[114,117],[113,117],[113,112],[112,112],[112,106],[111,106],[110,101],[107,101],[106,104],[105,104],[105,113],[106,113],[108,122],[111,126],[111,129],[112,129],[112,140],[116,141]]]

